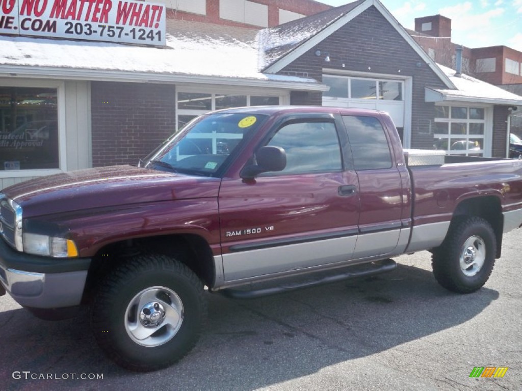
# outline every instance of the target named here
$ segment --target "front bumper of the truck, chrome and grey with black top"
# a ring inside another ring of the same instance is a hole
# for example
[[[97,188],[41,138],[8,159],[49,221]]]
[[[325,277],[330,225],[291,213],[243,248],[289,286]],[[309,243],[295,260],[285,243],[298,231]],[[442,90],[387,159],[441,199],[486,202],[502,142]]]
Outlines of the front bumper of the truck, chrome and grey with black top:
[[[87,258],[55,259],[18,252],[0,239],[0,284],[23,307],[80,304],[90,262]]]

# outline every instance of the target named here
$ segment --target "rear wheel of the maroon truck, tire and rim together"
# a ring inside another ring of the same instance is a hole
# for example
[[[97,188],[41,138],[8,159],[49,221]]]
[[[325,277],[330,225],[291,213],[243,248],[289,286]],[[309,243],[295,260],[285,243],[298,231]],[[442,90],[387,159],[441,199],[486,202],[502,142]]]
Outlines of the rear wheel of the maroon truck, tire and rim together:
[[[444,288],[471,293],[487,282],[495,254],[491,225],[480,217],[459,218],[452,222],[442,245],[433,251],[433,274]]]

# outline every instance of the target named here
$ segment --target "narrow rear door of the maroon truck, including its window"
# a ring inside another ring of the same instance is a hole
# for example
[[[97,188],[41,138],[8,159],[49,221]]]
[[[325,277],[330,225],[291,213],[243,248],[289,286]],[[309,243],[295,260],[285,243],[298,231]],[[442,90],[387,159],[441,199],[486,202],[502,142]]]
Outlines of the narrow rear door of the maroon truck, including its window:
[[[342,120],[359,178],[361,202],[353,258],[390,254],[409,234],[402,227],[401,176],[390,153],[390,141],[376,117],[342,116]]]

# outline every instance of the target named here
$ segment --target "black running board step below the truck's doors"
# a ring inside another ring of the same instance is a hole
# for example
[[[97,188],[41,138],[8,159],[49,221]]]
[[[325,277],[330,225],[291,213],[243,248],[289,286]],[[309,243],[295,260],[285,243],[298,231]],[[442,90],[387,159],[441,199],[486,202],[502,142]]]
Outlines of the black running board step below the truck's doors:
[[[268,286],[267,283],[257,283],[252,284],[251,289],[241,289],[241,288],[228,288],[217,291],[217,293],[222,294],[223,296],[230,297],[233,299],[254,299],[257,297],[269,296],[279,294],[281,292],[289,292],[292,290],[308,288],[317,285],[337,283],[339,281],[355,278],[355,277],[366,277],[372,276],[375,274],[381,274],[384,272],[389,272],[394,270],[397,267],[397,263],[393,259],[384,259],[381,261],[375,261],[371,263],[365,263],[361,265],[354,265],[348,268],[344,268],[342,273],[327,275],[322,278],[318,278],[315,280],[305,280],[305,281],[296,281],[296,282],[288,282],[279,286]],[[255,289],[255,285],[262,285],[263,288]]]

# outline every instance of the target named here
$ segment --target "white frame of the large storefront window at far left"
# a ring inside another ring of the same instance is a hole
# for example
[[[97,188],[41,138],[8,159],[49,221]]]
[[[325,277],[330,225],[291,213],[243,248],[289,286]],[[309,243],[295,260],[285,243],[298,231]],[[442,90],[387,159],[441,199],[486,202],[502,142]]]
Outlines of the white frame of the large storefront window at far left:
[[[0,78],[2,87],[53,88],[56,89],[58,125],[58,168],[0,170],[0,179],[40,177],[67,171],[67,136],[65,131],[65,81],[60,80],[13,80]]]

